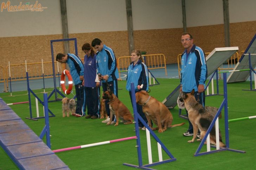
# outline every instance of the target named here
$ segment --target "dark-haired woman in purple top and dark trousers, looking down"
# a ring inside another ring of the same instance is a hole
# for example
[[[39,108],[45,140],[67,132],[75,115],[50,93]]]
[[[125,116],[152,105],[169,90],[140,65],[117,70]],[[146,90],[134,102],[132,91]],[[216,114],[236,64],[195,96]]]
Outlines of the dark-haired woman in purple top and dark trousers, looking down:
[[[84,92],[85,103],[87,106],[87,116],[85,118],[96,119],[98,115],[98,92],[100,81],[97,76],[96,53],[89,43],[85,43],[82,47],[84,51]]]

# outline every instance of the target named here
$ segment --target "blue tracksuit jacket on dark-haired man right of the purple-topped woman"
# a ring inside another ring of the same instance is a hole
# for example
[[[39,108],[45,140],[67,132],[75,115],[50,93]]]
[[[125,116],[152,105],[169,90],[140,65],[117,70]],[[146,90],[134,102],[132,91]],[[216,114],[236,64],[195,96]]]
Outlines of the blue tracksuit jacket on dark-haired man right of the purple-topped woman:
[[[116,68],[116,57],[114,51],[103,45],[102,50],[96,52],[97,54],[97,74],[109,75],[108,81],[113,81],[119,78],[118,70]],[[102,80],[105,82],[105,80]]]

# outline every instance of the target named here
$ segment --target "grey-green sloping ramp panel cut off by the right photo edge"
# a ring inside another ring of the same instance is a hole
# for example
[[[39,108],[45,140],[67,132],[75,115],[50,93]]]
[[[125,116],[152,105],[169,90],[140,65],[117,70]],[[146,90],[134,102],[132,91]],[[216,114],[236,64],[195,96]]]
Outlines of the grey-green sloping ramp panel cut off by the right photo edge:
[[[256,67],[256,56],[255,56],[256,41],[255,41],[255,39],[256,39],[256,34],[254,35],[254,38],[252,38],[248,47],[244,51],[244,54],[242,55],[241,59],[237,62],[233,71],[250,68],[249,57],[248,57],[249,53],[254,54],[254,55],[251,55],[251,66],[252,66],[253,69]],[[249,71],[246,71],[246,72],[231,72],[228,79],[227,79],[227,81],[228,81],[227,83],[246,81],[249,77],[249,74],[250,74]]]

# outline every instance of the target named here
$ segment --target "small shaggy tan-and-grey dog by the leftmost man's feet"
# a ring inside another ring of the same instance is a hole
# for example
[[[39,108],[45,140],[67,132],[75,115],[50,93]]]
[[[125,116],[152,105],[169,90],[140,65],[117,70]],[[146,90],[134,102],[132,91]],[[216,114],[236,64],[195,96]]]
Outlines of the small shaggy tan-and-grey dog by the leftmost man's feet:
[[[76,112],[76,101],[73,98],[64,97],[62,99],[62,116],[65,117],[65,113],[69,117],[69,113]]]

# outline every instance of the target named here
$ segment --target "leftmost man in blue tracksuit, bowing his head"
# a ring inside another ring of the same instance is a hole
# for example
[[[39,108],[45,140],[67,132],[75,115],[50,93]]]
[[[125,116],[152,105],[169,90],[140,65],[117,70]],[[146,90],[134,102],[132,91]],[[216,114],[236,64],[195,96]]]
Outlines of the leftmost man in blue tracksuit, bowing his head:
[[[56,61],[60,63],[67,63],[69,66],[69,72],[75,84],[76,98],[77,98],[76,113],[72,113],[72,115],[76,117],[82,117],[84,116],[84,112],[85,112],[84,111],[85,95],[84,95],[84,86],[82,85],[82,81],[84,79],[83,62],[77,55],[70,54],[70,53],[68,53],[67,55],[62,53],[57,54]]]

